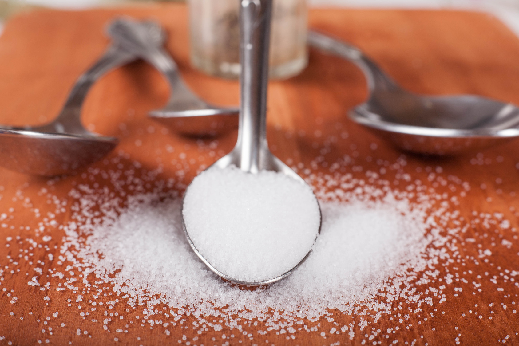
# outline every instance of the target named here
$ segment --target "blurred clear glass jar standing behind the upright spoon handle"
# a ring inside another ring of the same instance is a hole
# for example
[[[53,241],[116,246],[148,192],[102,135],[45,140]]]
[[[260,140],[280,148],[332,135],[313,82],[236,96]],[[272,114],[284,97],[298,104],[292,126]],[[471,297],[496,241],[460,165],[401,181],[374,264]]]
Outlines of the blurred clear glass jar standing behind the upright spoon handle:
[[[188,0],[191,63],[224,78],[240,75],[239,0]],[[308,63],[306,0],[274,0],[270,78],[297,75]]]

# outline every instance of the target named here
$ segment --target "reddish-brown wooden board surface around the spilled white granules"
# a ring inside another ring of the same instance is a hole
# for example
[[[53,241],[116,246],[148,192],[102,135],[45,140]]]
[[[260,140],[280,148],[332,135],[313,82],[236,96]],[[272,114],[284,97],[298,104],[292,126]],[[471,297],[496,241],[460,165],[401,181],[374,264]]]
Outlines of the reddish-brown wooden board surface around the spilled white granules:
[[[168,32],[167,48],[187,84],[209,102],[238,103],[237,81],[212,78],[190,67],[184,5],[40,10],[11,19],[0,37],[0,122],[37,124],[56,116],[77,76],[106,48],[104,25],[121,14],[159,20]],[[311,27],[358,45],[409,90],[474,93],[519,104],[519,40],[485,13],[314,9],[309,21]],[[247,331],[245,335],[225,326],[220,331],[197,334],[193,316],[186,316],[184,324],[169,326],[170,333],[165,333],[161,325],[141,325],[135,315],[142,315],[142,311],[128,310],[124,304],[109,311],[125,317],[112,317],[108,331],[103,328],[104,309],[78,310],[74,304],[70,308],[67,299],[74,302],[79,293],[56,290],[58,278],[46,273],[49,269],[64,270],[65,264],[57,259],[63,236],[59,225],[70,220],[68,193],[74,186],[97,182],[110,187],[102,175],[91,175],[92,169],[132,168],[146,181],[146,188],[161,179],[174,178],[174,188],[182,191],[201,168],[234,145],[236,131],[217,139],[186,138],[147,119],[147,111],[165,104],[168,93],[162,77],[143,62],[111,72],[93,87],[83,112],[83,122],[90,129],[119,137],[120,144],[108,160],[52,179],[0,169],[0,214],[6,214],[0,217],[5,225],[0,228],[0,345],[330,345],[393,344],[394,340],[399,345],[519,344],[519,286],[510,274],[519,270],[515,232],[519,228],[519,142],[451,158],[402,153],[348,120],[347,110],[366,97],[365,81],[357,68],[316,51],[310,51],[309,66],[301,75],[270,83],[268,140],[275,155],[305,177],[351,174],[351,178],[367,179],[368,172],[376,172],[394,189],[405,189],[419,180],[447,198],[458,196],[459,203],[452,204],[448,212],[459,212],[468,223],[475,218],[473,212],[501,213],[510,220],[509,228],[472,224],[464,237],[476,241],[458,244],[456,256],[463,263],[436,268],[439,278],[447,272],[459,274],[456,282],[446,284],[439,293],[445,295],[445,301],[440,303],[440,296],[435,296],[433,306],[422,306],[421,313],[411,314],[405,321],[396,311],[394,316],[378,319],[367,314],[363,329],[359,329],[359,316],[332,310],[333,322],[305,321],[318,332],[299,331],[293,338],[276,331],[260,335],[257,331],[265,330],[264,325],[246,322],[242,329]],[[41,219],[34,216],[34,210],[43,216],[56,210],[58,200],[49,196],[57,196],[63,203],[62,212],[54,215],[57,226],[36,232]],[[42,241],[45,235],[51,240]],[[13,240],[8,241],[8,237]],[[22,256],[28,246],[26,239],[45,244],[31,250],[30,261]],[[484,260],[480,255],[485,249],[491,255],[483,256]],[[39,265],[43,274],[37,279],[40,286],[28,285],[28,280],[38,275],[33,261],[43,262]],[[461,292],[455,291],[455,286],[461,287]],[[92,298],[87,295],[85,305],[88,299]],[[405,300],[401,306],[406,311]],[[86,318],[80,315],[87,310],[90,314]],[[54,317],[56,311],[59,315]],[[350,323],[355,326],[351,338],[348,333],[329,333],[333,327],[338,330]]]

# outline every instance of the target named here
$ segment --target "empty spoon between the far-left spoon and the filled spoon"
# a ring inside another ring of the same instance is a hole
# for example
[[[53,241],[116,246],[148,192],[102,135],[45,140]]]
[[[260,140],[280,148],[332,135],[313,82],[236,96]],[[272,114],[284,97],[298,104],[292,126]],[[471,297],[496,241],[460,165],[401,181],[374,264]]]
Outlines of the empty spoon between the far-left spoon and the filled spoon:
[[[112,31],[121,44],[138,53],[168,80],[171,94],[167,105],[152,110],[149,117],[188,136],[213,136],[236,128],[239,109],[218,107],[202,101],[185,84],[179,68],[163,48],[166,34],[160,24],[146,21],[145,27],[129,17],[120,18]],[[150,37],[155,39],[149,39]]]

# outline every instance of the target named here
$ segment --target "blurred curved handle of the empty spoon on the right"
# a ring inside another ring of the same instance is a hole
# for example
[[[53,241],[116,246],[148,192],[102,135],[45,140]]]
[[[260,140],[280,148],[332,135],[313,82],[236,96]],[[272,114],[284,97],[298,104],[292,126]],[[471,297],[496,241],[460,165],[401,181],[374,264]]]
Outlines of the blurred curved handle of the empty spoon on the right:
[[[367,80],[368,89],[371,92],[382,90],[399,90],[400,87],[380,67],[366,57],[357,47],[344,41],[340,41],[329,35],[314,30],[308,31],[308,45],[318,48],[334,56],[347,59],[360,67]]]

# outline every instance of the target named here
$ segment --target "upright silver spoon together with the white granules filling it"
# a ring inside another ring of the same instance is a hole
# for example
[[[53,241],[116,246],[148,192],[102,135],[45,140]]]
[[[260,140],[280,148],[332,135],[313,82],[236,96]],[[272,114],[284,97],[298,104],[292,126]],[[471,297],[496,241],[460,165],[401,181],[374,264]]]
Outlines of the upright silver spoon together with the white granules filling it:
[[[198,257],[222,278],[248,286],[290,275],[321,227],[312,189],[267,145],[271,11],[272,0],[240,2],[238,141],[195,177],[182,205],[184,231]]]

